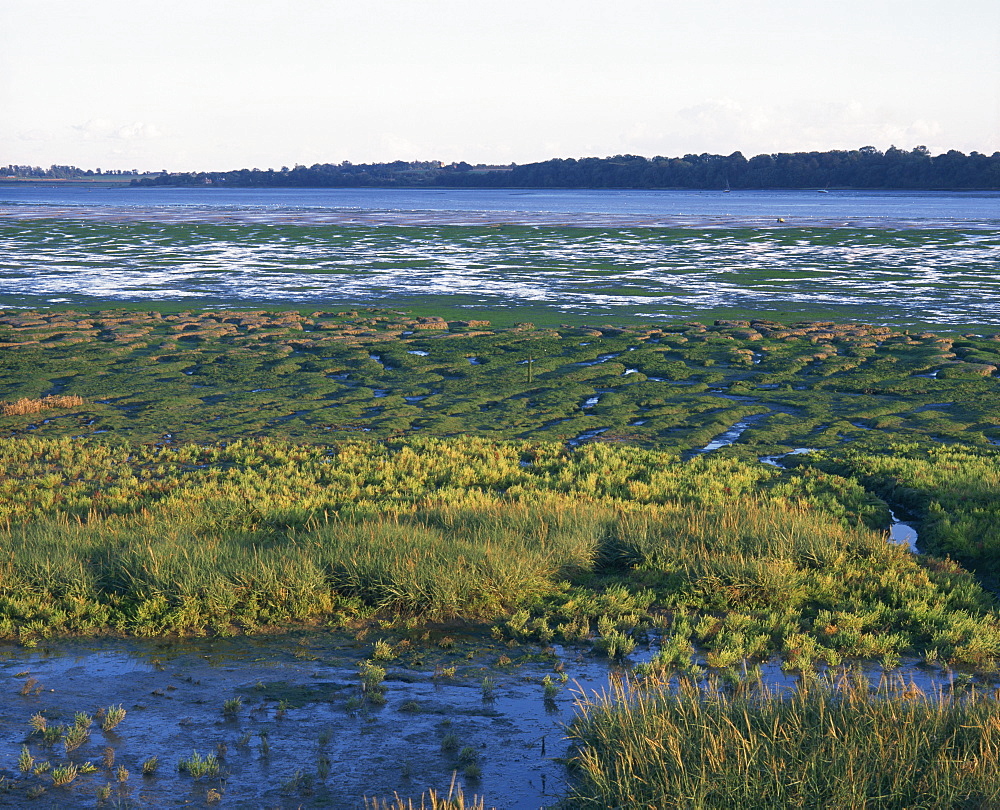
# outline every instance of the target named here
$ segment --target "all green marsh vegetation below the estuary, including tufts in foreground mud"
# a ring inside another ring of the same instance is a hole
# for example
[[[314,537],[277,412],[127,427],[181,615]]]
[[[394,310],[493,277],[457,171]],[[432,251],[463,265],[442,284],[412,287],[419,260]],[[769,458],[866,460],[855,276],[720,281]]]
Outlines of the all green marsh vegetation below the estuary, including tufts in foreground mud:
[[[994,337],[122,310],[6,312],[0,341],[7,640],[298,628],[367,644],[374,631],[354,712],[392,702],[413,633],[443,650],[454,639],[432,629],[626,664],[651,647],[620,691],[581,704],[567,806],[996,798],[976,764],[1000,727],[982,688],[1000,663],[984,587],[1000,544]],[[811,452],[760,461],[796,448]],[[923,553],[887,542],[890,507]],[[495,655],[474,681],[484,700],[511,663]],[[856,661],[980,686],[823,680]],[[768,691],[755,673],[771,663],[802,688]],[[455,677],[456,663],[436,666],[436,682]],[[559,671],[546,677],[540,705],[562,699]],[[244,697],[216,700],[217,721],[236,722]],[[37,724],[45,739],[53,727]],[[94,732],[57,725],[65,756],[36,773],[37,751],[22,752],[25,790],[82,779],[74,752]],[[479,754],[444,736],[471,795]],[[661,744],[640,754],[648,738]],[[895,761],[872,771],[880,751]],[[221,767],[211,749],[185,755],[191,777]],[[795,768],[801,780],[779,778]]]

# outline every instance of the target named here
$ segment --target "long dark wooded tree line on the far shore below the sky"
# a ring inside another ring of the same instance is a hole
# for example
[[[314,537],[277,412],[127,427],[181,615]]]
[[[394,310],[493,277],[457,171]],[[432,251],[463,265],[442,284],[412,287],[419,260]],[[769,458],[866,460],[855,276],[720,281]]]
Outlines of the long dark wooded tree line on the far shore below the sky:
[[[1000,189],[1000,152],[931,155],[873,146],[850,151],[781,152],[747,160],[731,155],[553,159],[510,166],[444,165],[439,161],[317,163],[228,172],[162,173],[140,186],[221,185],[292,188],[446,186],[460,188],[850,188]]]

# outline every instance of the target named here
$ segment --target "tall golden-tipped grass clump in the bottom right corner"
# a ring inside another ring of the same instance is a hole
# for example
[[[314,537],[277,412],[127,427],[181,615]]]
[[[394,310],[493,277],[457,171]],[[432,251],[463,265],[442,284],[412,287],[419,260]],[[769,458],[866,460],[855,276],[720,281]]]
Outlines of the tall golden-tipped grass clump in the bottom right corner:
[[[563,806],[994,807],[1000,707],[864,678],[791,694],[682,681],[584,700]]]

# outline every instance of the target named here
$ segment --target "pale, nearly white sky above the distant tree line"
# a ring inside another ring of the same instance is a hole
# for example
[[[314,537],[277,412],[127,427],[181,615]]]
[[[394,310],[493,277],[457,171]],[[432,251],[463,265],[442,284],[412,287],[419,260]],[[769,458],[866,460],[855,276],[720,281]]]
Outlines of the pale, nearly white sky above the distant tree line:
[[[1000,151],[998,0],[0,0],[0,165]]]

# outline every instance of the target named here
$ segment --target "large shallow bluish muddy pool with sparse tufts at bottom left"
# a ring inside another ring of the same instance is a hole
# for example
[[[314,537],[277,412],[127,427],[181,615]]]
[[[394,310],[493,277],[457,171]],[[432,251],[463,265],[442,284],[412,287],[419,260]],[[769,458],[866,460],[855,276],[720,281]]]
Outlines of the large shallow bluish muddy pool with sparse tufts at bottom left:
[[[110,783],[110,806],[200,807],[214,789],[223,807],[360,808],[366,795],[447,790],[456,769],[466,792],[484,795],[487,806],[535,810],[564,794],[567,773],[557,758],[567,752],[563,727],[573,716],[574,689],[606,688],[615,666],[561,648],[539,655],[537,646],[510,650],[461,639],[454,651],[410,650],[381,662],[385,705],[377,706],[361,699],[358,670],[371,645],[325,633],[10,649],[0,658],[13,695],[0,707],[0,771],[22,776],[16,763],[37,712],[50,725],[72,724],[77,712],[121,705],[121,725],[105,733],[95,724],[69,757],[95,763],[98,772],[63,788],[49,783],[39,807],[93,807],[96,789]],[[505,652],[514,663],[495,666]],[[533,660],[524,661],[525,652]],[[428,662],[414,665],[417,658]],[[548,698],[546,676],[559,686]],[[21,695],[28,678],[35,683]],[[236,699],[240,705],[224,713],[226,701]],[[46,749],[38,735],[29,746],[37,761],[67,759],[61,746]],[[119,785],[101,765],[106,747],[114,768],[131,774],[128,782]],[[224,778],[195,780],[178,771],[193,751],[220,750]],[[463,778],[463,750],[478,762],[479,778]],[[159,767],[144,777],[142,763],[152,756]],[[25,798],[8,793],[4,800],[15,797]]]

